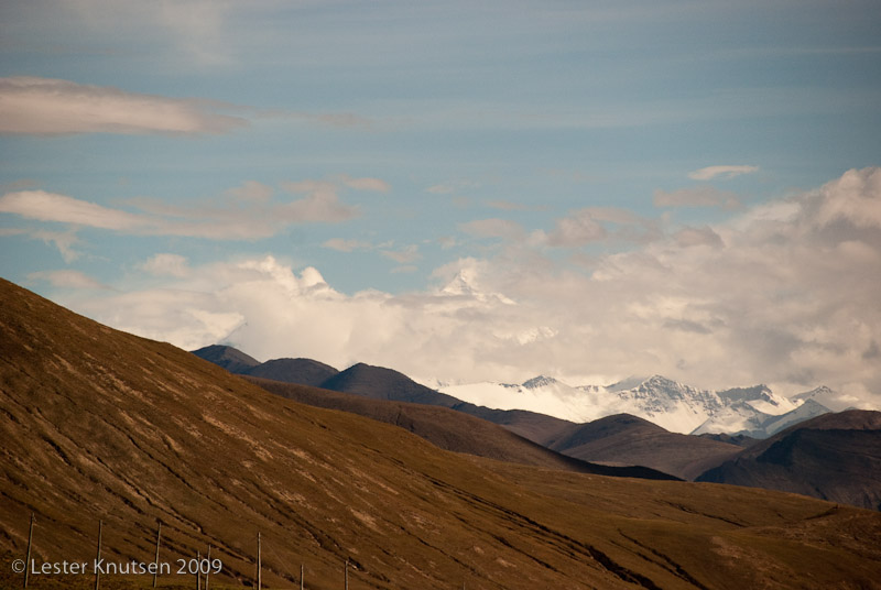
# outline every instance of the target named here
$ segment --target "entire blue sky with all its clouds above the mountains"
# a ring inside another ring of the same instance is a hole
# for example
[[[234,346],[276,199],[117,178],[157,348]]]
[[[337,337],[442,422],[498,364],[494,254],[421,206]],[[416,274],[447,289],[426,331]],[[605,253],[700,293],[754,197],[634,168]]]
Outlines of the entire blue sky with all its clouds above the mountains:
[[[0,275],[425,382],[881,407],[881,10],[0,3]]]

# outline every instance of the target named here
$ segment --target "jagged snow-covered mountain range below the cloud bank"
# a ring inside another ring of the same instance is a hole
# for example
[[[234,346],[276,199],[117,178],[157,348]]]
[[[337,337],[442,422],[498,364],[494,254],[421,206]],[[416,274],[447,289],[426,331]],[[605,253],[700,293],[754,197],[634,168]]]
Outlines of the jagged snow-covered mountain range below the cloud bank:
[[[628,413],[674,433],[748,434],[760,438],[828,412],[818,402],[805,405],[808,394],[788,400],[765,385],[714,392],[661,375],[577,387],[540,375],[522,384],[469,383],[445,385],[438,391],[476,405],[529,409],[576,423]],[[815,392],[826,395],[828,390]]]

